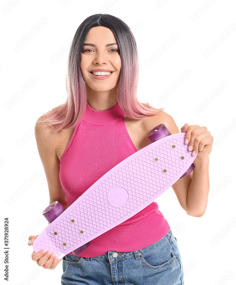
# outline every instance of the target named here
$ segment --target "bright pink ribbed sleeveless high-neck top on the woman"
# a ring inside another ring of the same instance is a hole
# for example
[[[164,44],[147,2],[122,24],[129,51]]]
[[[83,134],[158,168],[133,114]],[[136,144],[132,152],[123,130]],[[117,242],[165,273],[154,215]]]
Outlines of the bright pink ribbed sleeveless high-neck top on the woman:
[[[82,121],[60,159],[60,182],[69,205],[94,182],[137,151],[117,103],[109,110],[93,110],[87,102]],[[159,241],[170,225],[154,201],[146,208],[90,241],[79,257],[97,257],[108,251],[130,252]],[[72,252],[70,252],[73,255]]]

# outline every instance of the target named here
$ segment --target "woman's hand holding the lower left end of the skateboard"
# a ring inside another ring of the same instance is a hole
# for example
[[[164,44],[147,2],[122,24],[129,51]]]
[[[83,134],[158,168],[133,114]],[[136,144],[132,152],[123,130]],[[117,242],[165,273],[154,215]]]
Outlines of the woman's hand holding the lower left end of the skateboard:
[[[38,235],[31,235],[29,237],[28,245],[32,245],[37,236]],[[53,270],[62,260],[62,258],[58,260],[56,253],[53,253],[51,250],[46,251],[46,249],[41,249],[36,253],[33,251],[31,257],[32,260],[36,261],[39,266],[51,270]]]

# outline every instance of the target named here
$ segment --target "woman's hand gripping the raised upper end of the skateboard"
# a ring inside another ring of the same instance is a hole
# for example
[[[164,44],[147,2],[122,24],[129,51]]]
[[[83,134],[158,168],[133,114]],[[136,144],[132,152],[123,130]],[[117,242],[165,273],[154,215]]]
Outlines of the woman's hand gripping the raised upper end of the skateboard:
[[[207,127],[200,127],[199,125],[189,126],[186,123],[185,126],[181,128],[181,133],[183,132],[186,132],[185,139],[188,140],[188,142],[185,141],[185,143],[189,144],[188,149],[192,151],[192,155],[195,155],[199,149],[196,158],[203,160],[208,159],[212,150],[214,138],[210,132],[207,131]]]

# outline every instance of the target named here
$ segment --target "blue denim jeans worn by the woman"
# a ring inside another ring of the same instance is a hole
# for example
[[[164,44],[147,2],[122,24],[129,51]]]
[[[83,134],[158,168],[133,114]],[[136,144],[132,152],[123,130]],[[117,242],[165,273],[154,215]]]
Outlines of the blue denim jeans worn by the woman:
[[[184,284],[179,247],[171,230],[156,243],[137,251],[108,251],[89,258],[67,254],[62,268],[62,285]]]

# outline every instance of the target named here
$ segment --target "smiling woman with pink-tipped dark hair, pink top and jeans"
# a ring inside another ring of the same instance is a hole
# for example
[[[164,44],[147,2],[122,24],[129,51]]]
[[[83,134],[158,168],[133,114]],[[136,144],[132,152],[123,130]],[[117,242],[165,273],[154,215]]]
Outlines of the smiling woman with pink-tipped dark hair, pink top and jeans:
[[[68,56],[66,102],[35,125],[50,201],[66,209],[119,162],[150,144],[148,132],[164,123],[180,133],[173,118],[137,100],[139,61],[135,38],[117,17],[96,14],[77,29]],[[101,72],[101,73],[100,73]],[[189,150],[198,153],[193,172],[172,188],[188,215],[202,217],[209,192],[213,137],[188,125]],[[37,236],[29,237],[32,245]],[[184,284],[176,238],[156,202],[93,239],[78,255],[58,260],[52,251],[32,253],[39,266],[63,260],[62,284]]]

